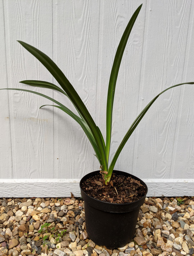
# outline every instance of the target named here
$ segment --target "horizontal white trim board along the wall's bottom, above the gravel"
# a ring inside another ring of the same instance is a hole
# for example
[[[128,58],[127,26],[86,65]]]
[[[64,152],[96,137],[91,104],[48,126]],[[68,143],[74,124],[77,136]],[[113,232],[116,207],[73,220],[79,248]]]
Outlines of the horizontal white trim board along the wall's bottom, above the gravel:
[[[194,196],[194,179],[143,179],[147,196]],[[79,179],[1,179],[0,197],[80,197]]]

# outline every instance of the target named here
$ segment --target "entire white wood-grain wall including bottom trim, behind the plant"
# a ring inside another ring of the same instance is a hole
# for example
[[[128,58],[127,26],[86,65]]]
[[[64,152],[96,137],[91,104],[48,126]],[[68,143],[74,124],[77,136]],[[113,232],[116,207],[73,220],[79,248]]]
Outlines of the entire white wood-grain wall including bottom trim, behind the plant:
[[[19,84],[54,82],[16,40],[63,70],[105,135],[109,74],[128,20],[143,2],[124,52],[115,92],[111,154],[138,113],[176,83],[194,81],[194,1],[1,0],[0,88],[58,92]],[[194,196],[194,85],[160,96],[124,147],[115,169],[147,182],[150,196]],[[79,196],[98,170],[81,128],[40,96],[0,91],[0,197]],[[73,109],[73,108],[72,108]]]

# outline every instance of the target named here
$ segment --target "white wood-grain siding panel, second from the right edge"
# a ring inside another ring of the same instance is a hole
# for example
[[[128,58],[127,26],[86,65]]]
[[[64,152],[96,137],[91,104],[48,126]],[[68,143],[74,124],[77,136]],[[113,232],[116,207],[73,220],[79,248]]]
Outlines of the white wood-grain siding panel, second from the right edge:
[[[139,112],[165,88],[183,81],[191,1],[149,1]],[[136,172],[170,178],[180,88],[160,96],[138,127]]]

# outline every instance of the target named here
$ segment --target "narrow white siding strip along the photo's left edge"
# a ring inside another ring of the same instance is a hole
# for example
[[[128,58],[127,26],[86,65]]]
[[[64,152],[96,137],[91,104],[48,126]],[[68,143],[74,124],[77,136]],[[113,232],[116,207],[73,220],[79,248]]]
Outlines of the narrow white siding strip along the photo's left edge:
[[[4,24],[4,6],[0,1],[0,78],[1,88],[8,87],[7,65],[6,65],[6,38]],[[9,122],[9,104],[8,91],[0,91],[0,178],[13,178],[12,159],[11,159],[11,140],[10,140],[10,122]]]

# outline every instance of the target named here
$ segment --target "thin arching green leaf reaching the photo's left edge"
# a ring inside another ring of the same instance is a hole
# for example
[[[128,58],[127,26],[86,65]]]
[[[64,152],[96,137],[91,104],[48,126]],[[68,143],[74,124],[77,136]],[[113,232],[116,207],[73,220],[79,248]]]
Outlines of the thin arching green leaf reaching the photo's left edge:
[[[36,91],[30,91],[30,90],[25,90],[25,89],[18,89],[18,88],[1,88],[0,90],[16,90],[16,91],[24,91],[24,92],[30,92],[30,93],[34,93],[36,95],[39,95],[39,96],[42,96],[48,100],[51,100],[53,102],[55,102],[56,104],[58,104],[59,106],[57,106],[58,108],[62,109],[64,112],[66,112],[68,115],[70,115],[74,120],[77,121],[77,123],[79,123],[82,127],[82,129],[84,130],[84,132],[86,133],[86,136],[89,138],[90,142],[91,142],[91,145],[93,146],[94,148],[94,151],[96,153],[96,157],[98,158],[100,164],[101,164],[101,160],[100,160],[100,153],[98,151],[98,147],[95,143],[95,140],[94,140],[94,137],[93,137],[93,134],[91,133],[88,125],[85,123],[84,120],[82,120],[79,116],[77,116],[76,114],[74,114],[70,109],[68,109],[66,106],[64,106],[63,104],[61,104],[60,102],[58,102],[57,100],[47,96],[47,95],[44,95],[42,93],[39,93],[39,92],[36,92]],[[43,106],[46,106],[46,105],[43,105]],[[41,106],[41,108],[43,107]]]

